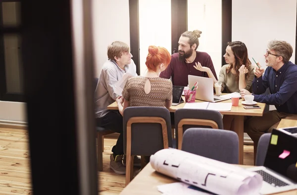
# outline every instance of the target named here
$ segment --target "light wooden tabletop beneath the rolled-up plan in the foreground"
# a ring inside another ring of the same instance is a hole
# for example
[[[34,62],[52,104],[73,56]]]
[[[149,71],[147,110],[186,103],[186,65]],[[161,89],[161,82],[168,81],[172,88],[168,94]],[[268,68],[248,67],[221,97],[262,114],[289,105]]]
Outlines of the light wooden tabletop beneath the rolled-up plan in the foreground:
[[[245,165],[239,166],[250,167]],[[157,186],[174,182],[179,181],[156,172],[150,163],[148,163],[128,186],[124,188],[120,195],[161,195],[162,193],[157,190]],[[297,195],[297,190],[278,193],[277,195]]]

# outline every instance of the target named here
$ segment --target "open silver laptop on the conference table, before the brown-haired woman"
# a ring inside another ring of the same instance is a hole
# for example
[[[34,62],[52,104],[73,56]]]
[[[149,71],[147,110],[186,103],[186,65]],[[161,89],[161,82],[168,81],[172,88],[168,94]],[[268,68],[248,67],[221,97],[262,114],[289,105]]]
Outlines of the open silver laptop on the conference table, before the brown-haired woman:
[[[229,100],[221,96],[213,95],[213,80],[212,78],[198,77],[194,75],[188,75],[189,88],[192,88],[196,82],[198,82],[198,88],[196,91],[196,99],[206,102],[220,102]]]

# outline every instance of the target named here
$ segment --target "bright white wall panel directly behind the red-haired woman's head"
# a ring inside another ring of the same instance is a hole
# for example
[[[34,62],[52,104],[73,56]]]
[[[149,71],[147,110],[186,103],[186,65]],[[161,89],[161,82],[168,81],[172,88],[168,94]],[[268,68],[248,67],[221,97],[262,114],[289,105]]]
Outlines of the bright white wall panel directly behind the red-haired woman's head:
[[[140,75],[147,70],[149,45],[165,47],[171,53],[171,0],[139,1]]]

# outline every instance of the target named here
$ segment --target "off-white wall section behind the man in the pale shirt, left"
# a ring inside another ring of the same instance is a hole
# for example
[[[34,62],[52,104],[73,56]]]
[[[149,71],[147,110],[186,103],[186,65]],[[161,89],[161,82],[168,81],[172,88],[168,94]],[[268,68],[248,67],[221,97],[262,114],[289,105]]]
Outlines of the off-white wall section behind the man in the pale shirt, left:
[[[115,40],[130,45],[129,0],[93,0],[95,76],[107,60],[107,46]]]

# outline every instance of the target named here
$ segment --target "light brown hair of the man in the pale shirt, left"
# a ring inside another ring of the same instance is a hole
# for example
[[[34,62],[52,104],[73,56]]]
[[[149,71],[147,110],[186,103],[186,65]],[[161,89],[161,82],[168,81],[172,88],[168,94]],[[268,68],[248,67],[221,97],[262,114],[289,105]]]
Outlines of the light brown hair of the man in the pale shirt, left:
[[[108,60],[114,60],[115,56],[120,58],[125,52],[130,52],[130,47],[122,41],[114,41],[107,47]]]

